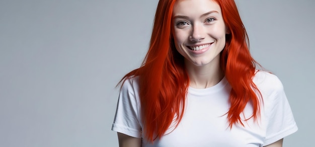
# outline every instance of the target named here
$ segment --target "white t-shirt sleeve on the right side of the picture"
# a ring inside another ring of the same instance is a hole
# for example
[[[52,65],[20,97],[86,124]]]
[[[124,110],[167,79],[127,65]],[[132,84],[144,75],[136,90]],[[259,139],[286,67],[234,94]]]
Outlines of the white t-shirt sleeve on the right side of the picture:
[[[297,131],[297,125],[282,83],[276,76],[271,81],[273,90],[268,97],[270,103],[267,102],[270,105],[267,107],[268,125],[264,145],[271,144]]]

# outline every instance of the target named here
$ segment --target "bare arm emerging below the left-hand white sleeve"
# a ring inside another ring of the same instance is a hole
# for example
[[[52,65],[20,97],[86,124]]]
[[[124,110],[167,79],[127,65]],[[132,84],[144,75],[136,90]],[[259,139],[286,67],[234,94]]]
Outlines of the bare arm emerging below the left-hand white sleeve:
[[[131,137],[123,133],[118,134],[119,147],[140,147],[141,138]],[[272,146],[271,146],[272,147]]]

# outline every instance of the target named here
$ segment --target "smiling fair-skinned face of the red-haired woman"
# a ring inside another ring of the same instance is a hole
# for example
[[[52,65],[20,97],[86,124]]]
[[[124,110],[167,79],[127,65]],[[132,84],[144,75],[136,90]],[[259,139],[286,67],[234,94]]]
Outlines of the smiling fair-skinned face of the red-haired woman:
[[[196,66],[219,62],[227,28],[218,4],[211,0],[177,1],[172,29],[176,49],[186,61]]]

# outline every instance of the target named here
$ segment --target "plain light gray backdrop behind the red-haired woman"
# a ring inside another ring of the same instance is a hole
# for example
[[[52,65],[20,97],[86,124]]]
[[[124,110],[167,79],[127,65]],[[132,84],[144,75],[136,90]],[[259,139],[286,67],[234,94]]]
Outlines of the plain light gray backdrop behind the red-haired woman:
[[[315,1],[237,4],[251,52],[283,82],[299,130],[314,132]],[[118,146],[122,76],[146,53],[157,0],[0,1],[0,146]]]

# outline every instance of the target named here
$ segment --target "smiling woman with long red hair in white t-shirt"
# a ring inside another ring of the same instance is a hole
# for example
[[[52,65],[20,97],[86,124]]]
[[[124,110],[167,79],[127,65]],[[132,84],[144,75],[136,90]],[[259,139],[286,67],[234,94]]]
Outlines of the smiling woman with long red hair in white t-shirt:
[[[120,146],[282,146],[297,126],[256,64],[233,0],[160,0],[146,58],[122,79]]]

